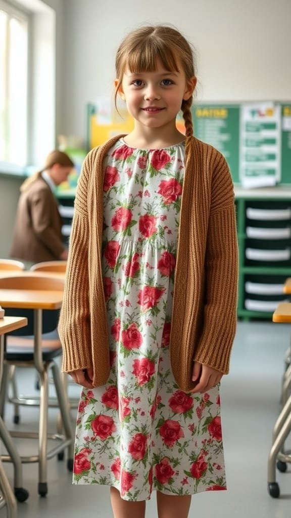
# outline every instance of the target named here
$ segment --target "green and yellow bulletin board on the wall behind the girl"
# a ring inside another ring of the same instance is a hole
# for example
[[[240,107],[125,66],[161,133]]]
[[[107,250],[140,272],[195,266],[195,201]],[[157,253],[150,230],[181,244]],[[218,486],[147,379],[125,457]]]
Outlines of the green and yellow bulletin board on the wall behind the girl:
[[[88,149],[134,127],[126,107],[112,110],[106,98],[87,106]],[[196,103],[194,135],[221,151],[234,183],[291,184],[291,101]],[[177,127],[184,133],[181,114]]]

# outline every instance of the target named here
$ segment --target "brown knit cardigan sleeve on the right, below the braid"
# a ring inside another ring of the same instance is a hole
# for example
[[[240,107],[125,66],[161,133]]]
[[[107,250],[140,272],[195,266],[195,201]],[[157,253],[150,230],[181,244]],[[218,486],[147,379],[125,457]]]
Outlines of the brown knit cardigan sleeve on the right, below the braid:
[[[234,188],[224,157],[215,159],[205,257],[203,329],[194,360],[228,373],[237,322],[238,247]]]

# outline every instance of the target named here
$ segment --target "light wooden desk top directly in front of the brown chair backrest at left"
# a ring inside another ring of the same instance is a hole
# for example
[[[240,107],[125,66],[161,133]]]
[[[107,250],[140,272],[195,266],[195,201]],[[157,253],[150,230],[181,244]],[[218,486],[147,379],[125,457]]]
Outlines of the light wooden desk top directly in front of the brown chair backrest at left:
[[[63,291],[0,289],[0,305],[3,308],[60,309],[63,295]]]

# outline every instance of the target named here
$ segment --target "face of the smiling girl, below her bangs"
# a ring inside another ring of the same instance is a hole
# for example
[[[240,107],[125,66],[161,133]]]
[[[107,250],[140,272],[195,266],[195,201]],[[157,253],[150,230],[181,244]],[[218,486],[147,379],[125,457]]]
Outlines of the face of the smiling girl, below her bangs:
[[[120,95],[138,124],[148,128],[160,128],[168,124],[176,126],[176,116],[182,101],[191,97],[195,85],[195,77],[186,81],[184,71],[165,70],[157,60],[153,72],[135,74],[126,69]]]

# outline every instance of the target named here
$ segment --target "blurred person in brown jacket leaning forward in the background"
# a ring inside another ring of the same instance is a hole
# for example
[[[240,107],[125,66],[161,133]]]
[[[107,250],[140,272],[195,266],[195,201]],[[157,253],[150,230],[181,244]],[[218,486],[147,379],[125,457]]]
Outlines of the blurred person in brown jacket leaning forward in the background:
[[[59,150],[47,156],[45,166],[21,185],[10,256],[22,261],[67,260],[62,218],[54,190],[66,181],[74,163]]]

